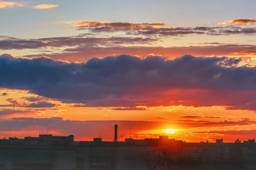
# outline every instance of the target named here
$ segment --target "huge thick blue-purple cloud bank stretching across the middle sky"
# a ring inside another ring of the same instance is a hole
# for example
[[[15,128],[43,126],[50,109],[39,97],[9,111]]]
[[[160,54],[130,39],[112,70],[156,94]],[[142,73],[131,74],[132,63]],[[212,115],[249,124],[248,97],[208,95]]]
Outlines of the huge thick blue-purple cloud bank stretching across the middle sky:
[[[244,59],[121,55],[67,63],[5,54],[0,58],[0,86],[87,107],[224,105],[251,109],[247,105],[255,101],[256,67],[237,66]]]

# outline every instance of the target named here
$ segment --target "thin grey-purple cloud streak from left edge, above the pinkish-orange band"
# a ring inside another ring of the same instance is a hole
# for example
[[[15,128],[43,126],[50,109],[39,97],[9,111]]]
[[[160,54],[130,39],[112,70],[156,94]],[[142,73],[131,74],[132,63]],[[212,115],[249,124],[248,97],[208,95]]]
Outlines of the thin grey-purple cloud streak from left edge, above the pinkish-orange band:
[[[104,45],[113,46],[120,44],[151,44],[157,39],[147,37],[84,37],[86,35],[71,37],[51,37],[44,39],[15,39],[6,37],[0,40],[0,49],[38,49],[46,47],[63,47],[77,45]]]

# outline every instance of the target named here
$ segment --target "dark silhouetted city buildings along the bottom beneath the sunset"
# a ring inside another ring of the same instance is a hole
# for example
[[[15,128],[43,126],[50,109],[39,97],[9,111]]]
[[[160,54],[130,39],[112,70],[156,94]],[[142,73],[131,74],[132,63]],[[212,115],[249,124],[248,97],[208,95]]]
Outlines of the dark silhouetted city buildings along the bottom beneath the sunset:
[[[256,169],[256,144],[186,143],[160,136],[158,139],[125,142],[81,141],[73,135],[39,135],[0,140],[0,170],[84,169]]]

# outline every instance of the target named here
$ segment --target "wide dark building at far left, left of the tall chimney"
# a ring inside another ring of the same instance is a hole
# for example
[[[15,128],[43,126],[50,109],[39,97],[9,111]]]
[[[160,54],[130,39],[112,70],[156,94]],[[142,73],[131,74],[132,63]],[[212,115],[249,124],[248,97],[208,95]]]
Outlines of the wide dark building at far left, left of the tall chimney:
[[[76,148],[73,143],[73,135],[2,139],[0,170],[75,170]]]

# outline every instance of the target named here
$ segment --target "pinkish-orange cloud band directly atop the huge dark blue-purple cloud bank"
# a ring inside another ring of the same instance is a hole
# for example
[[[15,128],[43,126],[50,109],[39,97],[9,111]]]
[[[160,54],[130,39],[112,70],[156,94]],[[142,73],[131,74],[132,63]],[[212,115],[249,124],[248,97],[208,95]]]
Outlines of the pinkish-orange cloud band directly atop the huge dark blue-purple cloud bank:
[[[168,59],[192,54],[193,56],[256,56],[256,45],[205,45],[205,46],[89,46],[80,45],[76,48],[67,48],[60,53],[42,53],[36,56],[49,56],[53,59],[63,59],[70,62],[84,62],[87,59],[99,56],[114,56],[129,54],[145,57],[148,54],[167,56]],[[34,57],[35,55],[25,56]]]

